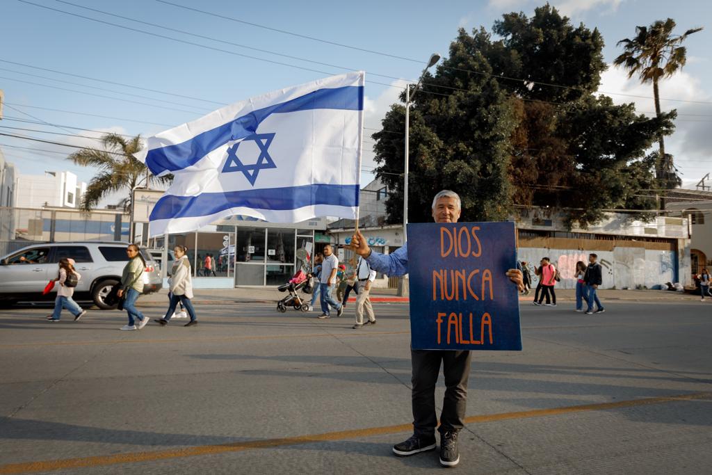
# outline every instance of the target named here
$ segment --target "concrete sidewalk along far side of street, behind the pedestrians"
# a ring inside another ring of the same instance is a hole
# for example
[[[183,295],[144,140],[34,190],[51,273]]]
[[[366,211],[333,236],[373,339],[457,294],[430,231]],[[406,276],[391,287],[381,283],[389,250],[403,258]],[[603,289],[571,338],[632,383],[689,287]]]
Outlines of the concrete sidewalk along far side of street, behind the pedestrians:
[[[140,303],[164,303],[167,301],[167,289],[158,293],[140,298]],[[197,303],[221,303],[221,302],[241,302],[241,303],[276,303],[287,295],[276,288],[219,288],[219,289],[198,289],[194,291],[194,301]],[[299,293],[300,297],[310,298],[309,294]],[[601,301],[666,301],[685,302],[700,301],[699,295],[670,291],[638,291],[638,290],[601,290],[598,291]],[[573,289],[557,289],[556,299],[559,302],[575,301],[576,293]],[[534,300],[534,291],[528,296],[520,296],[520,301],[531,302]],[[350,302],[355,302],[355,295],[351,293]],[[394,288],[373,288],[371,290],[371,301],[379,303],[407,303],[409,299],[397,296]],[[712,303],[712,297],[706,298],[704,303]],[[701,302],[701,304],[703,304]]]

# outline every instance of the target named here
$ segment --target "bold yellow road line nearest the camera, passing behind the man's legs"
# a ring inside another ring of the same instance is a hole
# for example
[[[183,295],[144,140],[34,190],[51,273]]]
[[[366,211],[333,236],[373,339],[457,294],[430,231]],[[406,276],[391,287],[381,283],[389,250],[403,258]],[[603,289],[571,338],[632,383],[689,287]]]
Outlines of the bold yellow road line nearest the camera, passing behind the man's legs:
[[[712,392],[696,392],[677,396],[647,397],[639,400],[603,402],[600,404],[582,404],[578,406],[555,407],[553,409],[534,409],[531,411],[504,412],[501,414],[486,414],[481,416],[466,417],[465,422],[466,424],[482,424],[485,422],[498,422],[508,419],[529,419],[532,417],[545,417],[557,414],[568,414],[570,412],[601,411],[606,409],[619,409],[622,407],[644,406],[649,404],[661,404],[664,402],[690,401],[710,398],[712,398]],[[366,429],[353,429],[339,432],[326,432],[324,434],[285,437],[283,439],[265,439],[255,440],[251,442],[233,442],[230,444],[203,445],[199,447],[188,447],[186,449],[135,452],[130,454],[81,457],[76,459],[31,461],[21,464],[0,465],[0,474],[28,474],[36,471],[77,469],[88,466],[94,467],[116,464],[134,464],[142,461],[178,459],[190,456],[222,454],[225,452],[239,452],[252,449],[268,449],[271,447],[287,447],[290,445],[310,444],[314,442],[361,439],[381,434],[409,432],[412,430],[412,427],[412,424],[399,424],[393,426],[370,427]]]

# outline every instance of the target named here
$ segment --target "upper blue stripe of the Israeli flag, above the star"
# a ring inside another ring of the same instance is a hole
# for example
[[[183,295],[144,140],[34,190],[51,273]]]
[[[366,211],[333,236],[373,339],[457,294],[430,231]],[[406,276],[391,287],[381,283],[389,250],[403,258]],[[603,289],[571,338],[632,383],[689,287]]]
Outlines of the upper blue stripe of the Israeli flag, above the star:
[[[155,175],[184,169],[194,165],[221,145],[254,134],[260,123],[271,114],[313,109],[363,110],[363,86],[347,85],[342,88],[318,89],[284,103],[253,110],[247,115],[206,130],[185,142],[149,150],[146,155],[146,166]]]

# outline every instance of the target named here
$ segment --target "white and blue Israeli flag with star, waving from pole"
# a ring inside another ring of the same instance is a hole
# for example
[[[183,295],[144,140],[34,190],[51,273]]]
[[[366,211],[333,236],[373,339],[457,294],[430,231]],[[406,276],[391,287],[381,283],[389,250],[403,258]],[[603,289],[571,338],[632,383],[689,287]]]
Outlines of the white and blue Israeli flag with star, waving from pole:
[[[364,81],[360,71],[278,90],[150,137],[135,157],[174,175],[151,212],[151,236],[234,214],[356,219]]]

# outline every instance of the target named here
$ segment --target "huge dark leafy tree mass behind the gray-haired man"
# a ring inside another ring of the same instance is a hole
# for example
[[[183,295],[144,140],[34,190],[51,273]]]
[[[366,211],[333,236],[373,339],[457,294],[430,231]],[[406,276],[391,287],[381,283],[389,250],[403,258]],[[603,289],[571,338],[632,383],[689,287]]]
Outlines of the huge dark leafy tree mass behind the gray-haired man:
[[[651,209],[656,154],[674,113],[646,118],[634,106],[595,97],[603,41],[546,5],[532,18],[459,30],[449,57],[427,75],[411,113],[409,220],[429,218],[429,200],[450,188],[463,219],[503,219],[513,206],[564,209],[570,225],[604,209]],[[403,97],[402,97],[403,99]],[[389,222],[402,222],[404,108],[393,105],[373,137],[377,173],[389,187]]]

